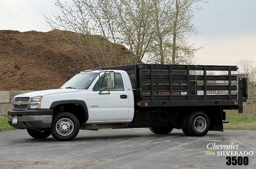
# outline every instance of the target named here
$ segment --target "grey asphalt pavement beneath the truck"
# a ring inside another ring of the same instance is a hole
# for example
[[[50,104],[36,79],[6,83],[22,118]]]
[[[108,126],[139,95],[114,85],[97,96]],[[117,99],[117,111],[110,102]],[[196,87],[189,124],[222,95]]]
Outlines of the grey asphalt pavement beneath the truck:
[[[256,153],[256,131],[210,131],[203,137],[185,136],[181,130],[168,135],[148,128],[80,130],[71,142],[52,136],[33,139],[26,130],[0,132],[0,168],[255,168],[226,165],[226,156],[208,150],[208,144],[238,145],[235,151]],[[207,152],[214,155],[205,155]]]

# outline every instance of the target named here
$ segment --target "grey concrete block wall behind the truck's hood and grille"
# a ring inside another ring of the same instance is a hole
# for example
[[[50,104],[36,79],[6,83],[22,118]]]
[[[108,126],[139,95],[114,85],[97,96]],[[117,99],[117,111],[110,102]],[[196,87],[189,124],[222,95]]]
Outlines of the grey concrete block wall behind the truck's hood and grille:
[[[14,96],[33,91],[0,91],[0,116],[7,116],[7,111],[12,108]]]

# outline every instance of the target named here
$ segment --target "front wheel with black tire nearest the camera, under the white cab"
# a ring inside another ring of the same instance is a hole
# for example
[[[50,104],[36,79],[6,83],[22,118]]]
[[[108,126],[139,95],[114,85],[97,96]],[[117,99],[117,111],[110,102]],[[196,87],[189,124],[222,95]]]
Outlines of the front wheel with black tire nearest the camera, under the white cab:
[[[70,141],[79,132],[79,120],[70,112],[59,112],[53,119],[51,134],[59,141]]]

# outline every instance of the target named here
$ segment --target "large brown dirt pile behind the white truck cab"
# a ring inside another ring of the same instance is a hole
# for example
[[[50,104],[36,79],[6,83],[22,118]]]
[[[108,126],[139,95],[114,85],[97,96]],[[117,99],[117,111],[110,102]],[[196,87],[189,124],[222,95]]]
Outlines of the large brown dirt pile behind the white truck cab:
[[[59,36],[60,32],[0,31],[0,90],[56,89],[65,82],[66,74],[91,69],[75,46]],[[115,48],[120,61],[132,56],[122,45],[100,36],[94,38],[104,42],[102,48],[106,44],[108,48]],[[90,57],[97,54],[94,51],[88,53]]]

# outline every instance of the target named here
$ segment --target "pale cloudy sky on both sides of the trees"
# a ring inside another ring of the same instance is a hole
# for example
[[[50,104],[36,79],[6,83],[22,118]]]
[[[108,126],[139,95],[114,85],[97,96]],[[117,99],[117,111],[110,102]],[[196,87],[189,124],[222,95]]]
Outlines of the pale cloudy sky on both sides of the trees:
[[[202,46],[196,63],[237,65],[248,59],[256,66],[256,1],[208,0],[202,7],[193,19],[200,34],[189,38]],[[51,0],[0,0],[0,30],[48,32],[51,27],[42,14],[56,12]]]

